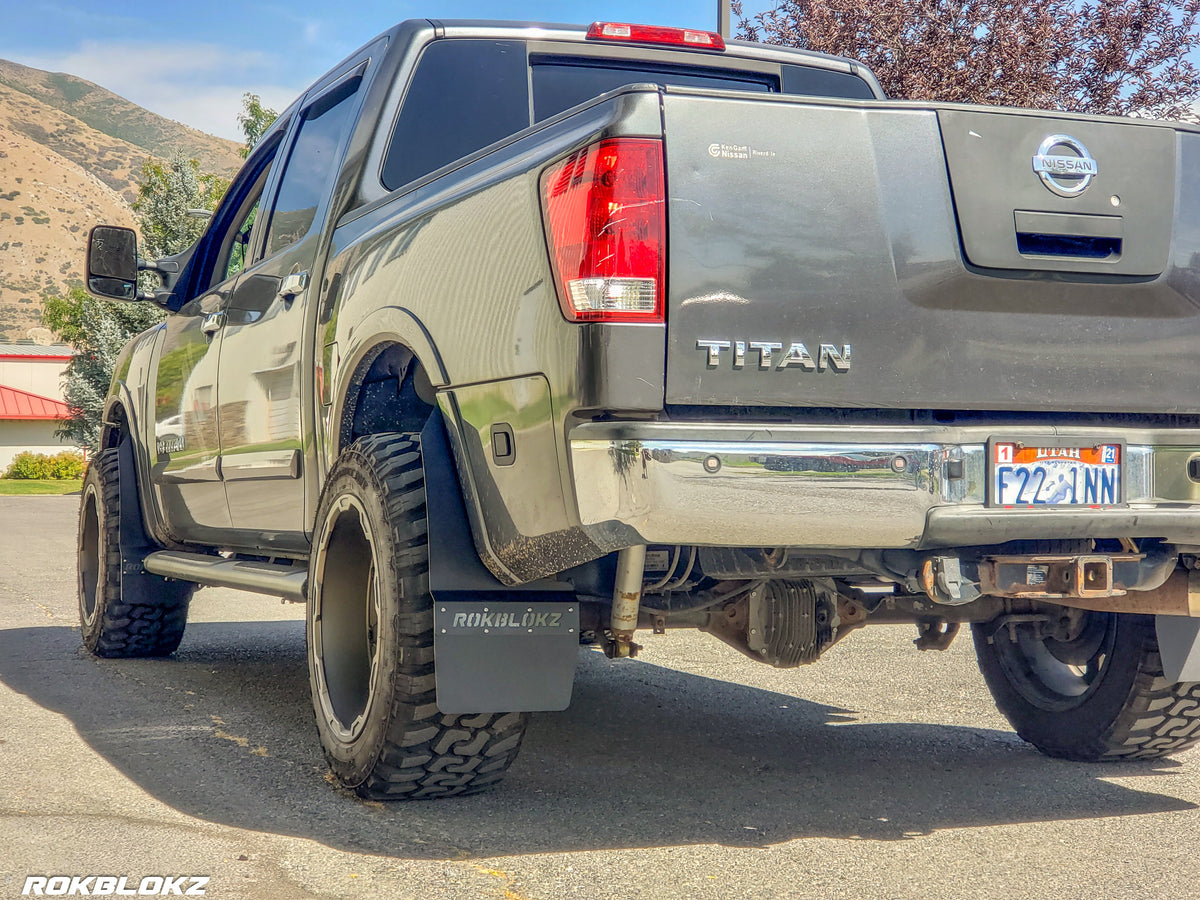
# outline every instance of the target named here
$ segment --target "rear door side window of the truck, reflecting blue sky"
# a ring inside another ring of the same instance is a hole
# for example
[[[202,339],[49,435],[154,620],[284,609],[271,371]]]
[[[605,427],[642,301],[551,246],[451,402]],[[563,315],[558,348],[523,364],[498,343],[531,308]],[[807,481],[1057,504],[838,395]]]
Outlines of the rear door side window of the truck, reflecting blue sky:
[[[300,133],[283,169],[266,232],[266,256],[308,234],[317,206],[337,174],[337,148],[350,124],[352,102],[361,78],[320,97],[301,114]]]

